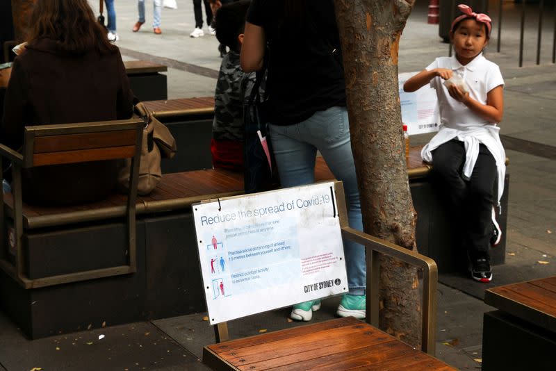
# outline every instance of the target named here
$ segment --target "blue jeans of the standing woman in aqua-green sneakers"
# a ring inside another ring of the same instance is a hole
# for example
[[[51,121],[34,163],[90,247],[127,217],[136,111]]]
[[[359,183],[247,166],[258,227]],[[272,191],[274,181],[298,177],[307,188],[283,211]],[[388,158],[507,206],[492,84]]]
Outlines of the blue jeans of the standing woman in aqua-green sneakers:
[[[362,231],[361,202],[350,142],[350,124],[345,107],[319,111],[299,124],[270,124],[270,138],[280,183],[284,187],[313,183],[316,153],[317,150],[320,151],[332,174],[338,181],[343,181],[350,226]],[[350,294],[363,295],[367,271],[365,248],[347,240],[344,240],[343,248]]]

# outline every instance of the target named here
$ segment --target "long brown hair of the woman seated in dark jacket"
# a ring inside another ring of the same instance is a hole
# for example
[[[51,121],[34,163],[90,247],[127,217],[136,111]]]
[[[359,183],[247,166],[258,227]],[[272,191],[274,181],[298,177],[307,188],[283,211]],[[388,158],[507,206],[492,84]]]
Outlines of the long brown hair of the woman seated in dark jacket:
[[[96,49],[107,54],[117,50],[87,0],[38,0],[31,13],[27,41],[33,44],[41,38],[55,40],[58,49],[68,53]]]

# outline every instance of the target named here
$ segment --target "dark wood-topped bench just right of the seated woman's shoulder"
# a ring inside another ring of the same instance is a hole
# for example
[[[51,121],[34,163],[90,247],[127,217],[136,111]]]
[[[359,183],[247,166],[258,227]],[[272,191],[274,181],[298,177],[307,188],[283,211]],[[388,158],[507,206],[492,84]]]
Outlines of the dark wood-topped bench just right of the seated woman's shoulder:
[[[165,65],[158,65],[147,60],[126,60],[124,67],[129,79],[129,86],[140,101],[167,99],[167,76],[161,74],[168,70]]]

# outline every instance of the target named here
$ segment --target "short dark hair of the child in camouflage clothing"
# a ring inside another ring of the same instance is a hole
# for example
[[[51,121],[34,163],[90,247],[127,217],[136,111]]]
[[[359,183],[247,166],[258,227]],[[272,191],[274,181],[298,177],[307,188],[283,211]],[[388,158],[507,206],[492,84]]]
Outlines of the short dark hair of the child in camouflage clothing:
[[[216,38],[231,50],[239,51],[238,35],[245,30],[245,16],[251,0],[223,5],[215,15]]]

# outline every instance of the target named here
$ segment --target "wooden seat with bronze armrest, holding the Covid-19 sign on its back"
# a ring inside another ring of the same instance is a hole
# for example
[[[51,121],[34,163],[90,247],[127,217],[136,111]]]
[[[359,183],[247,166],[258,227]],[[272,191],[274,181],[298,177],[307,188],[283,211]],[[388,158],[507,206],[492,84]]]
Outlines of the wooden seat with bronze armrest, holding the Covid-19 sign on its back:
[[[350,228],[347,225],[343,186],[339,182],[336,182],[335,194],[343,239],[354,240],[366,247],[367,323],[354,318],[341,318],[236,340],[229,340],[226,322],[218,323],[215,331],[220,343],[207,345],[203,350],[203,362],[213,370],[455,370],[431,356],[434,355],[436,335],[437,272],[434,261]],[[314,220],[314,215],[312,218],[311,226],[305,228],[310,228],[311,234],[319,234],[320,226],[327,222]],[[423,269],[423,352],[376,328],[379,320],[381,254]],[[257,263],[243,267],[243,270],[254,269]],[[273,261],[273,264],[276,263]],[[245,297],[245,300],[249,298]]]

